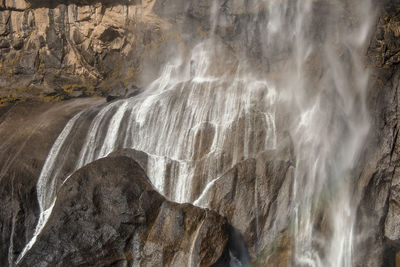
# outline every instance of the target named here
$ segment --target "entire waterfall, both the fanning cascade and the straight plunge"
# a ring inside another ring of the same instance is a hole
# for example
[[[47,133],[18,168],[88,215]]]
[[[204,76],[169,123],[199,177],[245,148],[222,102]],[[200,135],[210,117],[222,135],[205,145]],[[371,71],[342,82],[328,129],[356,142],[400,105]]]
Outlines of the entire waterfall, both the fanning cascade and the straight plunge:
[[[65,180],[96,159],[123,148],[143,151],[157,190],[173,201],[201,199],[207,206],[202,192],[216,177],[279,149],[279,135],[289,132],[295,157],[293,265],[352,266],[350,178],[369,128],[362,51],[372,21],[370,2],[231,2],[252,14],[242,26],[245,38],[235,41],[244,52],[227,52],[218,37],[227,4],[215,1],[213,34],[189,56],[171,60],[141,94],[68,122],[38,180],[40,218],[19,260],[44,227]],[[256,66],[254,46],[261,62]],[[277,120],[287,120],[282,129]],[[326,229],[316,229],[321,213]]]

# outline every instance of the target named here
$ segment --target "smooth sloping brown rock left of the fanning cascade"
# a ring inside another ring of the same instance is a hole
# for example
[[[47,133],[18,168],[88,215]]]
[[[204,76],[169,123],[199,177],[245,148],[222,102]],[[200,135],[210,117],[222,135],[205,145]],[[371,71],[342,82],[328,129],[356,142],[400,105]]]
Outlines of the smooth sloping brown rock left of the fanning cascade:
[[[0,108],[0,266],[12,266],[34,232],[36,182],[55,139],[79,111],[104,102],[17,103]]]

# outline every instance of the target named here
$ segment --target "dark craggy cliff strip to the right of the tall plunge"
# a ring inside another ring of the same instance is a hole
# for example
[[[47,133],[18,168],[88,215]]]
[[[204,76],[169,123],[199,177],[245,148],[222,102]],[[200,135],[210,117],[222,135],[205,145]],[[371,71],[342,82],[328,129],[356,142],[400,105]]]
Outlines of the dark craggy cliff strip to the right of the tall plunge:
[[[399,266],[400,207],[399,170],[399,1],[382,4],[368,49],[372,68],[368,96],[373,122],[364,166],[357,181],[360,194],[356,266]],[[396,261],[397,259],[397,261]]]

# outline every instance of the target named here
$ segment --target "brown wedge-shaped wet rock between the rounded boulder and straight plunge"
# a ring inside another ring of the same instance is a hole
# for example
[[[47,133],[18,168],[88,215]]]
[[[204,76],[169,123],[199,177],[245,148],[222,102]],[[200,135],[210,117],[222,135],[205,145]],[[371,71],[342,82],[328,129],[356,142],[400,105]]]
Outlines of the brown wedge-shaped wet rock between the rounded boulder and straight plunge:
[[[213,180],[194,203],[226,216],[255,259],[271,250],[289,225],[292,181],[290,153],[267,151]],[[290,251],[290,247],[281,250]]]

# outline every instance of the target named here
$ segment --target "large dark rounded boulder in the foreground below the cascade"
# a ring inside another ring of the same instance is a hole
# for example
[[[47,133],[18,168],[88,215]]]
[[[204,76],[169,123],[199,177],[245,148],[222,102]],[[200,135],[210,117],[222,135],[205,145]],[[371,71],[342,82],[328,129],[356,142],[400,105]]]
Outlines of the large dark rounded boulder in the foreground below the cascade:
[[[226,219],[166,201],[135,161],[112,157],[68,179],[20,266],[211,266],[227,241]]]

